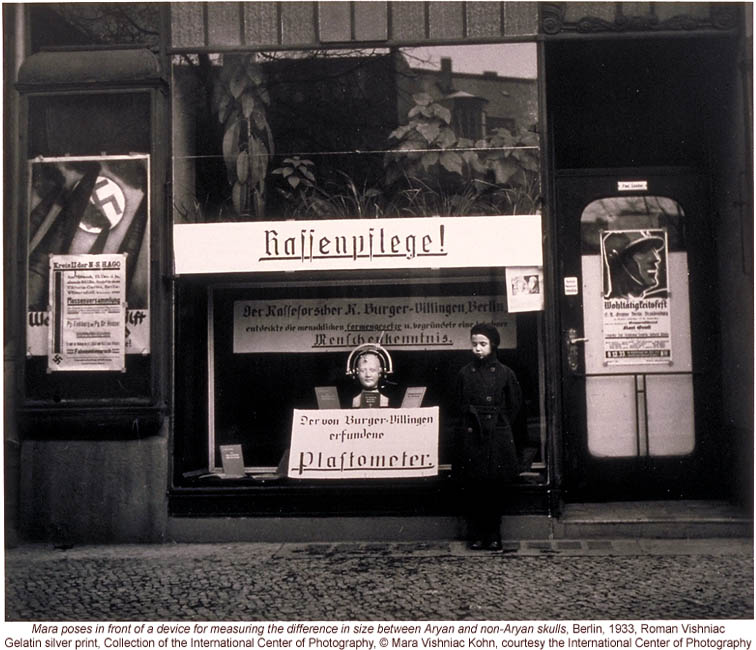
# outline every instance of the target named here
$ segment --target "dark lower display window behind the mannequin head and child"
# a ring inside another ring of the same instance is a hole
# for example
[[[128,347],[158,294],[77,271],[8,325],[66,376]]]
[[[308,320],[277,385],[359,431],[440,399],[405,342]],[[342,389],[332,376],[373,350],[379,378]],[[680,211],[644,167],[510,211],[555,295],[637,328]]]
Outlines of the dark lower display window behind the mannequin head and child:
[[[496,296],[502,293],[504,278],[495,273],[483,281],[213,289],[211,464],[221,467],[220,445],[240,444],[254,471],[275,467],[288,446],[293,409],[317,409],[315,389],[320,386],[335,389],[337,408],[351,408],[360,386],[347,372],[349,353],[380,339],[393,359],[394,372],[382,389],[389,406],[400,407],[408,387],[426,388],[422,404],[441,411],[440,463],[448,466],[456,374],[472,358],[464,321],[476,307],[487,310],[501,302]],[[325,312],[335,315],[323,316]],[[491,320],[502,336],[499,357],[516,371],[526,395],[526,408],[515,423],[518,442],[535,452],[537,315],[499,312]],[[351,325],[337,325],[344,321]],[[439,321],[446,324],[444,334],[438,334]],[[264,340],[260,331],[268,333]],[[529,435],[535,439],[529,441]]]

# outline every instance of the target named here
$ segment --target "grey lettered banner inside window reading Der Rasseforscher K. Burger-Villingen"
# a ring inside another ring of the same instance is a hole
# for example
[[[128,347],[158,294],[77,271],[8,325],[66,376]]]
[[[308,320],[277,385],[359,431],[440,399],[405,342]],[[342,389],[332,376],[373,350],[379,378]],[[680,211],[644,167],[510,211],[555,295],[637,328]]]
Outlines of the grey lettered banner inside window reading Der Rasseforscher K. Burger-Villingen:
[[[470,328],[493,323],[501,348],[517,326],[496,296],[237,300],[234,352],[333,352],[362,343],[403,350],[466,350]]]

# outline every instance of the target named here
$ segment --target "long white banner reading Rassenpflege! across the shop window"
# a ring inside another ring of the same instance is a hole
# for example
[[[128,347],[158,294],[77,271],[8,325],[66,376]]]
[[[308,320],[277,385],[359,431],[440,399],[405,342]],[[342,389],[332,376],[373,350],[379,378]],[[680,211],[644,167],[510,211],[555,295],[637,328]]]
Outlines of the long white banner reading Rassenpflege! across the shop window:
[[[176,273],[541,266],[540,215],[176,224]]]

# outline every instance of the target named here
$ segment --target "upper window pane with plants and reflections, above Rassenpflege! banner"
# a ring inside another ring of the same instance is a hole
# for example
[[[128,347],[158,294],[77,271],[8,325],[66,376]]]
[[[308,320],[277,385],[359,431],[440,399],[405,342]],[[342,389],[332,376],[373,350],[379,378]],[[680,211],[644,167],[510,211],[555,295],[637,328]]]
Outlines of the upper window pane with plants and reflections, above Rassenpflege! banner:
[[[535,44],[181,55],[174,220],[533,214]]]

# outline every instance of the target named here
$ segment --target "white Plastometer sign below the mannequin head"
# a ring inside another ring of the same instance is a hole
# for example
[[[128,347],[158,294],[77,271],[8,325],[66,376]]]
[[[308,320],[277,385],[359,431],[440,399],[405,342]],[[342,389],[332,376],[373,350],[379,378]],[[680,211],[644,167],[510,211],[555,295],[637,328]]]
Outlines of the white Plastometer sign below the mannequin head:
[[[294,410],[289,478],[400,478],[436,474],[437,406]]]

